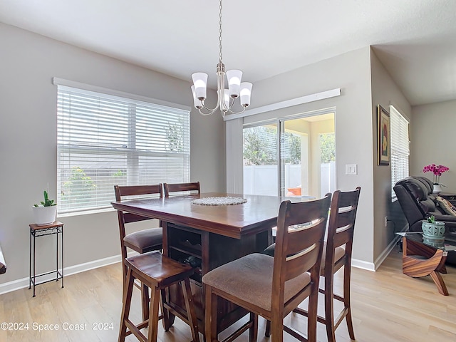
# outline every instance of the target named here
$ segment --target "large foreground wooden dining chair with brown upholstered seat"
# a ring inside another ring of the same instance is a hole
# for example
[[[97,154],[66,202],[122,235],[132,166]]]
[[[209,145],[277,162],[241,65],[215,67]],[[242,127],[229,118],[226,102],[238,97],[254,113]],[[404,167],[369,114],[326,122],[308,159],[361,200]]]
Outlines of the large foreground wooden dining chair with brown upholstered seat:
[[[249,321],[229,341],[247,330],[250,341],[256,341],[258,315],[272,322],[274,342],[283,341],[284,331],[301,341],[316,341],[318,281],[330,203],[331,194],[309,202],[282,202],[274,257],[249,254],[204,274],[206,341],[217,341],[217,297],[250,311]],[[306,339],[284,326],[284,317],[308,297]]]

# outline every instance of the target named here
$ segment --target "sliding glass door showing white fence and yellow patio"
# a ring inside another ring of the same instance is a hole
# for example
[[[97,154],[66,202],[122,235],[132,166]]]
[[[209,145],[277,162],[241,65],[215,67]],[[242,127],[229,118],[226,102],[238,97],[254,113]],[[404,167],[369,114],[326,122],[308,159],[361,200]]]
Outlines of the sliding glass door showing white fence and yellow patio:
[[[321,197],[336,190],[334,114],[244,127],[244,193]]]

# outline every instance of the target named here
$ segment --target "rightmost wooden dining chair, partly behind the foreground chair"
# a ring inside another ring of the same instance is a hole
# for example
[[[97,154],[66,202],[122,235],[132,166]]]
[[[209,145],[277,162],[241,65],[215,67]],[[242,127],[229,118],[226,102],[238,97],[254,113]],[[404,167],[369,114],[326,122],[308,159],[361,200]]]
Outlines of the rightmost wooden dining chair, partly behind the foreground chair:
[[[353,232],[361,187],[356,190],[333,194],[329,215],[328,236],[323,246],[320,275],[324,276],[324,289],[319,291],[325,298],[325,316],[318,316],[318,322],[326,325],[328,342],[336,342],[336,328],[346,318],[348,335],[355,339],[351,318],[350,284],[351,284],[351,252]],[[343,295],[334,294],[334,274],[343,266]],[[343,303],[343,310],[334,320],[334,299]],[[304,309],[294,310],[297,314],[308,315]]]

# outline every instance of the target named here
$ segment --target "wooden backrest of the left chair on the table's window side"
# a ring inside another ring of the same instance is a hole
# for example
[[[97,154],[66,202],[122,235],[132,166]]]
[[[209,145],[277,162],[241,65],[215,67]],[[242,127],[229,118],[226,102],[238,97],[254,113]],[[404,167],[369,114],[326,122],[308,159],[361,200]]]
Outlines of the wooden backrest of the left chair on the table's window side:
[[[126,199],[133,199],[135,197],[163,197],[162,189],[161,183],[154,185],[129,185],[125,187],[114,185],[115,200],[119,202],[125,199],[125,197],[127,197]],[[118,210],[121,243],[123,243],[123,238],[125,237],[125,224],[145,221],[146,219],[150,218]]]

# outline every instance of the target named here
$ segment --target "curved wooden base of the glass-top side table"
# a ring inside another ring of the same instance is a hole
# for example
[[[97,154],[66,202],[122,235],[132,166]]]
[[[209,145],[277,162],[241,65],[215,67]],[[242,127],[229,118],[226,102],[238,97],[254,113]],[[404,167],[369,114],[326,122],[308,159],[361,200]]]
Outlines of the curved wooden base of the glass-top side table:
[[[414,278],[421,276],[431,276],[435,285],[440,294],[443,296],[448,296],[447,286],[442,279],[440,272],[438,271],[445,260],[447,259],[447,252],[442,251],[442,249],[437,249],[435,254],[428,259],[419,259],[407,254],[407,244],[413,244],[408,242],[408,240],[403,238],[403,257],[402,257],[402,270],[403,274],[412,276]]]

